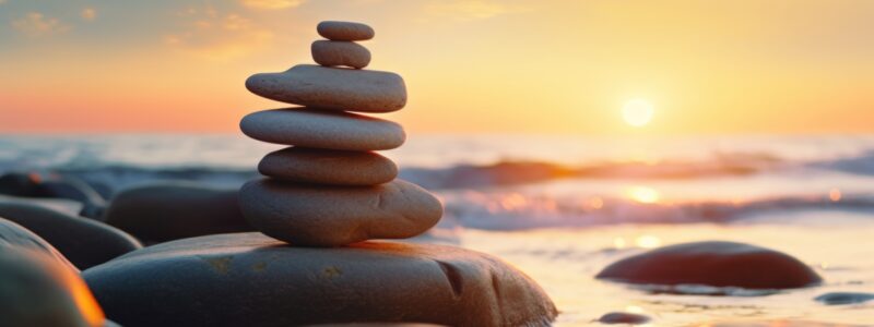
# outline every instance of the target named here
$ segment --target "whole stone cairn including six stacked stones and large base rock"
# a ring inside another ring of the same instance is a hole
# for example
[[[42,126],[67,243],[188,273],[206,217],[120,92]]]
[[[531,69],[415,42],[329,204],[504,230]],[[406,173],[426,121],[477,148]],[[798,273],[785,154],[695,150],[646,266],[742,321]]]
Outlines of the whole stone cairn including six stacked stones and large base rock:
[[[267,178],[239,191],[243,214],[260,232],[166,242],[87,269],[107,315],[125,326],[548,326],[557,315],[548,295],[499,258],[368,241],[421,234],[442,205],[397,180],[398,167],[374,153],[404,142],[400,125],[349,112],[406,104],[400,76],[361,70],[370,55],[354,41],[374,31],[324,22],[318,32],[328,38],[312,44],[321,65],[246,82],[257,95],[303,106],[240,123],[248,136],[291,145],[264,157],[258,170]]]

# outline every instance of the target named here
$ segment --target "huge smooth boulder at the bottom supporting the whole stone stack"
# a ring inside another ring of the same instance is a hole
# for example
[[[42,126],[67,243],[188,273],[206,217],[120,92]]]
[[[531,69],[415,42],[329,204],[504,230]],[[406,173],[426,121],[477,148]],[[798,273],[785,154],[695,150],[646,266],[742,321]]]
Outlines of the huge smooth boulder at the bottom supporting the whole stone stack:
[[[547,326],[556,315],[524,274],[441,245],[295,247],[260,233],[223,234],[142,249],[83,276],[123,326]]]

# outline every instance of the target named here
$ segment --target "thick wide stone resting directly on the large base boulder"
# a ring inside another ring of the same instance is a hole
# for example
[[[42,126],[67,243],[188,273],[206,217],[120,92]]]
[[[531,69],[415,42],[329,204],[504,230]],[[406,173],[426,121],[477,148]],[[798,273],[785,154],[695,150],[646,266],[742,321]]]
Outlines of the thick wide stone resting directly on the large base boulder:
[[[402,180],[374,186],[324,186],[250,181],[239,190],[246,219],[262,233],[295,245],[340,246],[424,233],[442,204]]]

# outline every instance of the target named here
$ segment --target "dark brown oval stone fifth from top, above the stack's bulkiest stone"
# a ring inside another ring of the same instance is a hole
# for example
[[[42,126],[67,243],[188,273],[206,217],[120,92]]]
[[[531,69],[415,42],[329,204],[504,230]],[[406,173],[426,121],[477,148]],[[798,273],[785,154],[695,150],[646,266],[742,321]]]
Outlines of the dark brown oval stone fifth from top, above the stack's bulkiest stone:
[[[398,166],[376,153],[297,146],[267,155],[258,171],[284,181],[329,185],[376,185],[398,177]]]

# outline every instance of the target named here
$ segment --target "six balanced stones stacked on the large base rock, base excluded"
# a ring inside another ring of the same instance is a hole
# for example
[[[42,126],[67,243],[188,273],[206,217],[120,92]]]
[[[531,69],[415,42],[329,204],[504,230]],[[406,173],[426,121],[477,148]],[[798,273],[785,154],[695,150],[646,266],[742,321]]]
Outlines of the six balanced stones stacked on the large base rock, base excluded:
[[[290,145],[267,155],[267,178],[240,190],[240,207],[259,231],[292,245],[341,246],[370,239],[418,235],[440,219],[442,205],[424,189],[395,179],[398,168],[375,150],[405,141],[401,125],[368,116],[406,104],[401,76],[362,70],[370,51],[356,41],[374,37],[367,25],[322,22],[312,43],[320,65],[256,74],[246,87],[264,98],[303,107],[248,114],[249,137]]]

